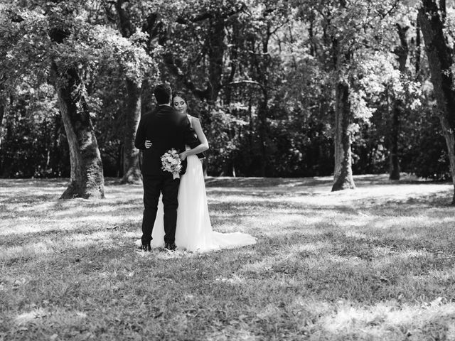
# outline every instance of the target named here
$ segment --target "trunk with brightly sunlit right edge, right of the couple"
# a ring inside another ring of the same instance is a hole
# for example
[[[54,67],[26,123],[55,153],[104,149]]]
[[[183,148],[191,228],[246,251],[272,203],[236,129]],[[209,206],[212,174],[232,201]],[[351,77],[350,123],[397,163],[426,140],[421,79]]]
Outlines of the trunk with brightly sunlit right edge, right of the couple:
[[[350,104],[349,85],[338,82],[335,104],[335,171],[332,191],[355,188],[350,151]]]

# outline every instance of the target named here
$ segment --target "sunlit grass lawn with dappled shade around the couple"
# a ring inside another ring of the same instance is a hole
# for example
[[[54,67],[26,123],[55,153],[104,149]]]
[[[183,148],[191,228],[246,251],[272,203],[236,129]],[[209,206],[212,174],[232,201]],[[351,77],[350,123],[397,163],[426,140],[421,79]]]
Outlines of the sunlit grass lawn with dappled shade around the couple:
[[[455,340],[450,184],[206,183],[213,228],[255,246],[140,254],[141,186],[0,179],[0,340]]]

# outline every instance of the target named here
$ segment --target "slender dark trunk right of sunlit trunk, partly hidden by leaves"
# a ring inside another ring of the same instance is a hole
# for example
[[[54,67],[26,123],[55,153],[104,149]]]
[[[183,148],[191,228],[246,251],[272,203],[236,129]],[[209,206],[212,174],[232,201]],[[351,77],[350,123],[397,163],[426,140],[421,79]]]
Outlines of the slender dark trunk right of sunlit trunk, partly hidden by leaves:
[[[395,49],[398,58],[398,70],[400,75],[404,76],[406,72],[406,60],[409,53],[407,46],[406,32],[409,26],[402,27],[397,24],[398,36],[400,37],[400,46]],[[400,180],[400,157],[398,155],[398,142],[400,136],[400,118],[403,114],[402,99],[395,98],[392,107],[392,126],[390,129],[390,180]]]

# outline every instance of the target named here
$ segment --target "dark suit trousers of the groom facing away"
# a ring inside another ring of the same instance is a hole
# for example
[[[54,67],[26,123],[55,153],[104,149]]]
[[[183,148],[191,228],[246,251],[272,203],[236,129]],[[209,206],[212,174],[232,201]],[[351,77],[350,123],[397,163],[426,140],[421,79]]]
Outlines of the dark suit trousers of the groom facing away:
[[[176,240],[178,184],[171,173],[165,175],[144,175],[144,217],[142,218],[142,244],[151,241],[160,193],[164,206],[164,242],[172,244]]]

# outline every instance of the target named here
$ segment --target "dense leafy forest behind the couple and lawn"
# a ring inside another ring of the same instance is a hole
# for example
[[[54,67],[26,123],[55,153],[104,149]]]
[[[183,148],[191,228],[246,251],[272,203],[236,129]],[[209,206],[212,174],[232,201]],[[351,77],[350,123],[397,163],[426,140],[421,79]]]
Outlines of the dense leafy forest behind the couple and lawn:
[[[168,81],[200,117],[208,175],[455,168],[450,1],[2,1],[0,177],[63,197],[140,181],[134,132]]]

